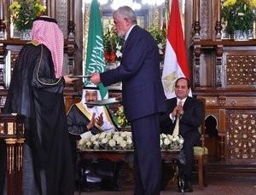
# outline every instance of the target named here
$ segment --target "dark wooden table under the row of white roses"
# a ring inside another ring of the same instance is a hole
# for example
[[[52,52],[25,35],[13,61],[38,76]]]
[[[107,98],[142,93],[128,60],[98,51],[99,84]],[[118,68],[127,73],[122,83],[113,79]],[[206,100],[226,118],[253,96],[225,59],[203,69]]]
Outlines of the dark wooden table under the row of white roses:
[[[86,175],[84,173],[86,167],[84,162],[86,160],[108,159],[112,162],[124,161],[125,163],[132,163],[133,150],[78,150],[79,154],[79,192],[81,185],[86,183]],[[161,150],[161,157],[165,163],[177,163],[177,185],[179,189],[184,192],[184,167],[185,156],[183,151],[180,150]]]

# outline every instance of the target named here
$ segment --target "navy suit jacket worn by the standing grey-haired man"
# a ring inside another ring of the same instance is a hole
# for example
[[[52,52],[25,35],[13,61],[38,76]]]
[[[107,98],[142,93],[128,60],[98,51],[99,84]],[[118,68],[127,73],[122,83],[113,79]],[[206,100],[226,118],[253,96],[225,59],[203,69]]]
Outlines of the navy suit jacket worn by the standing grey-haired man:
[[[166,111],[160,81],[160,55],[149,32],[134,26],[125,42],[118,68],[101,73],[104,86],[122,82],[123,105],[129,121]]]

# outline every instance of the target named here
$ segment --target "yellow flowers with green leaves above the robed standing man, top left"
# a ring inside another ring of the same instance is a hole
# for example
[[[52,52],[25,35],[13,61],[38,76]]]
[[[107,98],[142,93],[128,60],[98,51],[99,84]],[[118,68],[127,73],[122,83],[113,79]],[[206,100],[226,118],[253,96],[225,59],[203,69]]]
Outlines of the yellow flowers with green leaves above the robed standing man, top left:
[[[17,0],[9,6],[11,21],[17,31],[32,29],[32,22],[44,14],[41,0]]]

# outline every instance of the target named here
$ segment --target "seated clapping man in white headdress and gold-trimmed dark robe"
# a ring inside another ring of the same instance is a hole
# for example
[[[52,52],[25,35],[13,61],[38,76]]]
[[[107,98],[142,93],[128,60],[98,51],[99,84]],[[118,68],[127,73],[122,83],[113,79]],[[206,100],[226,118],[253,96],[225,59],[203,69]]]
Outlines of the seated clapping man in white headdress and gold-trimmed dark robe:
[[[86,104],[86,102],[95,100],[101,100],[98,88],[91,85],[86,86],[83,89],[82,100],[74,104],[67,112],[67,126],[73,145],[74,169],[77,169],[76,142],[81,137],[119,130],[106,106]],[[88,162],[86,164],[86,180],[91,183],[101,181],[102,189],[116,191],[119,189],[117,176],[120,166],[121,163],[112,163],[105,159],[99,159],[97,163]]]

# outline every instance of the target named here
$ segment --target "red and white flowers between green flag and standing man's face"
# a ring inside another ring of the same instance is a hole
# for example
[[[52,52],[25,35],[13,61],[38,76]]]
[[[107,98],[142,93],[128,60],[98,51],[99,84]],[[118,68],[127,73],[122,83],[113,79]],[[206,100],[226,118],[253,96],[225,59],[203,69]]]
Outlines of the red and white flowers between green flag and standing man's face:
[[[108,25],[103,33],[104,56],[106,62],[119,61],[122,57],[121,49],[124,39],[113,31],[113,25]]]

